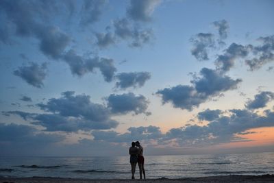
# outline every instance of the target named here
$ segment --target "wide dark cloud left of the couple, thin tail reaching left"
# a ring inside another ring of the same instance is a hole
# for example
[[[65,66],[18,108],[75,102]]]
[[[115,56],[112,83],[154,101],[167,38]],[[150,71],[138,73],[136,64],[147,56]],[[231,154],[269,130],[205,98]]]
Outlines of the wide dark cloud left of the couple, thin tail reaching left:
[[[111,112],[105,106],[92,103],[88,95],[62,93],[60,98],[51,98],[47,103],[38,103],[43,114],[8,111],[4,115],[16,114],[32,124],[46,127],[46,131],[77,132],[78,130],[108,130],[118,125],[111,119]]]

